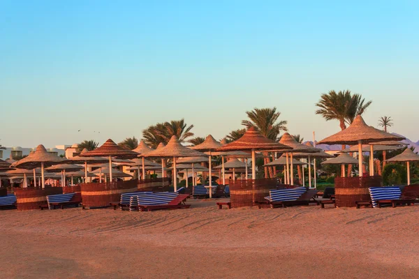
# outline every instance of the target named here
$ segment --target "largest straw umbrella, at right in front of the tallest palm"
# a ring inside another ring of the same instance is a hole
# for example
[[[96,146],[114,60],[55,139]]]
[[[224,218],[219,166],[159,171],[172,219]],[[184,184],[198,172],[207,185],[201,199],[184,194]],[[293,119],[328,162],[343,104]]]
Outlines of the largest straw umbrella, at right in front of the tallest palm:
[[[374,142],[383,142],[386,140],[405,140],[404,137],[399,135],[392,135],[390,133],[378,130],[374,127],[368,126],[362,116],[358,115],[355,117],[351,126],[345,130],[341,130],[335,135],[326,137],[325,139],[318,142],[319,144],[348,144],[354,145],[358,144],[358,153],[359,153],[359,165],[362,166],[362,144],[369,144]],[[370,152],[373,153],[373,146],[370,145]],[[370,156],[369,160],[369,169],[370,173],[374,175],[374,162],[373,156]],[[362,171],[360,171],[360,176],[362,176]]]

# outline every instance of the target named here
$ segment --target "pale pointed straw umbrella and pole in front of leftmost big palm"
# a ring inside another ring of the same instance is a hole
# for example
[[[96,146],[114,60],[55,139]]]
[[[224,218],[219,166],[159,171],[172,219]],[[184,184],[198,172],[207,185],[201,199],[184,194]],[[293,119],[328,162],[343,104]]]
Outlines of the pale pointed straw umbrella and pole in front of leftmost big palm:
[[[177,191],[177,181],[176,181],[176,158],[179,157],[206,157],[204,153],[199,151],[189,149],[183,146],[177,137],[174,135],[168,142],[166,146],[156,149],[150,153],[144,155],[145,157],[160,157],[160,158],[173,158],[173,172],[174,172],[174,186],[175,191]]]

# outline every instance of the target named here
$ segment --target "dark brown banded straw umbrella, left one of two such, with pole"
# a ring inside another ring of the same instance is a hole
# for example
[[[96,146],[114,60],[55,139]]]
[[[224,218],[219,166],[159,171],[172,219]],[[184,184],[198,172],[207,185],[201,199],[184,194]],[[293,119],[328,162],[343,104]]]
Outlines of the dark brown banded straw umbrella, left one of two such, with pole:
[[[138,156],[137,152],[126,150],[122,146],[115,144],[112,140],[107,140],[102,146],[83,154],[84,157],[106,156],[109,158],[109,178],[112,182],[112,157],[121,159],[133,159]]]

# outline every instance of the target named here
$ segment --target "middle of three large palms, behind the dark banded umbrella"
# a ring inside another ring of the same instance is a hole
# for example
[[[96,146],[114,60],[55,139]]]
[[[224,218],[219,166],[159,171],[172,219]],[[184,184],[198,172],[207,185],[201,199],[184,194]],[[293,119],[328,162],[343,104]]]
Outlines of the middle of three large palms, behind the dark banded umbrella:
[[[255,127],[260,134],[271,140],[278,140],[279,133],[288,130],[286,128],[287,121],[278,120],[281,112],[277,112],[277,107],[255,108],[251,112],[246,112],[246,114],[250,120],[243,120],[242,125],[247,128]],[[268,153],[265,153],[265,158],[263,158],[265,164],[271,161],[267,155]],[[274,177],[273,167],[265,167],[265,178],[269,177]]]

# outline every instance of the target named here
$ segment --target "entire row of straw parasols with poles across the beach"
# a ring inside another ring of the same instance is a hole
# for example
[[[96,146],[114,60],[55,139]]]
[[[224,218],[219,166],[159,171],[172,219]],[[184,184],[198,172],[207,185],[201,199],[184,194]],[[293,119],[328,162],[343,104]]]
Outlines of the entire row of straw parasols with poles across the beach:
[[[372,155],[374,154],[374,151],[399,148],[399,146],[402,145],[402,143],[397,142],[399,140],[404,140],[404,137],[399,135],[392,135],[382,130],[378,130],[372,126],[367,126],[365,121],[362,119],[362,116],[357,116],[351,126],[346,128],[346,130],[342,130],[335,135],[321,140],[319,144],[357,145],[355,147],[351,147],[351,149],[348,151],[358,151],[358,165],[362,165],[362,153],[368,150],[363,147],[363,144],[369,145],[367,147],[369,147],[369,152]],[[356,150],[356,147],[358,147],[358,150]],[[276,142],[274,140],[268,139],[267,137],[264,137],[263,135],[260,135],[256,128],[251,127],[246,131],[246,133],[244,133],[242,137],[240,137],[240,139],[228,144],[217,142],[214,140],[214,137],[208,135],[203,143],[196,146],[186,147],[179,142],[176,136],[173,136],[166,146],[164,144],[160,144],[157,149],[151,149],[144,142],[140,142],[136,149],[130,151],[123,149],[121,146],[118,146],[112,140],[107,140],[97,149],[93,151],[84,151],[80,153],[79,156],[75,156],[74,158],[69,159],[60,158],[52,153],[48,153],[45,147],[39,145],[36,148],[36,151],[29,154],[29,156],[13,163],[13,167],[24,169],[35,169],[36,167],[41,167],[41,183],[42,186],[45,187],[44,168],[51,165],[62,165],[69,162],[73,164],[84,164],[84,176],[85,181],[87,181],[87,165],[90,163],[104,163],[104,161],[106,161],[108,162],[109,178],[110,181],[112,181],[112,176],[115,174],[115,170],[112,170],[112,160],[115,161],[115,159],[133,159],[129,164],[131,164],[131,167],[137,167],[138,172],[140,172],[139,167],[141,166],[142,176],[145,177],[145,171],[147,167],[145,158],[161,158],[161,170],[163,173],[163,159],[172,158],[172,169],[174,174],[177,174],[177,163],[191,164],[191,168],[193,169],[192,172],[194,173],[195,163],[207,161],[209,165],[209,176],[212,177],[212,156],[221,156],[223,184],[225,184],[225,157],[244,158],[246,160],[244,165],[246,170],[247,158],[251,158],[251,178],[256,179],[256,156],[263,156],[262,154],[264,152],[284,154],[282,158],[277,159],[282,161],[274,160],[267,165],[281,165],[281,163],[284,163],[285,160],[285,182],[291,185],[293,185],[293,165],[295,163],[293,160],[294,158],[308,158],[309,167],[311,167],[311,158],[330,157],[329,154],[324,153],[321,149],[311,146],[310,144],[300,144],[299,142],[295,141],[295,139],[288,133],[285,133],[281,137],[281,140]],[[344,158],[346,158],[346,160],[343,160]],[[324,163],[337,163],[341,165],[348,163],[354,164],[355,162],[353,158],[349,158],[350,156],[341,155],[337,158],[327,160]],[[400,156],[396,156],[395,158],[392,158],[388,161],[396,160],[408,162],[409,169],[409,162],[418,161],[419,156],[416,153],[413,153],[410,149],[406,149],[406,151],[404,151],[404,153],[402,153]],[[154,165],[150,167],[158,166]],[[36,170],[34,170],[34,175],[35,172]],[[101,168],[99,168],[99,172],[101,172]],[[374,175],[374,156],[370,156],[369,172],[371,175]],[[342,173],[344,173],[344,171],[342,171]],[[359,175],[363,175],[361,171],[359,172]],[[101,177],[101,175],[99,176]],[[309,179],[311,179],[311,177],[309,177]],[[408,181],[408,183],[410,183],[410,181]],[[173,184],[175,186],[175,190],[177,190],[177,179],[173,180]],[[209,184],[211,187],[212,179],[209,179]],[[311,186],[311,181],[309,181],[309,184]],[[212,191],[210,191],[210,193],[211,192]]]

